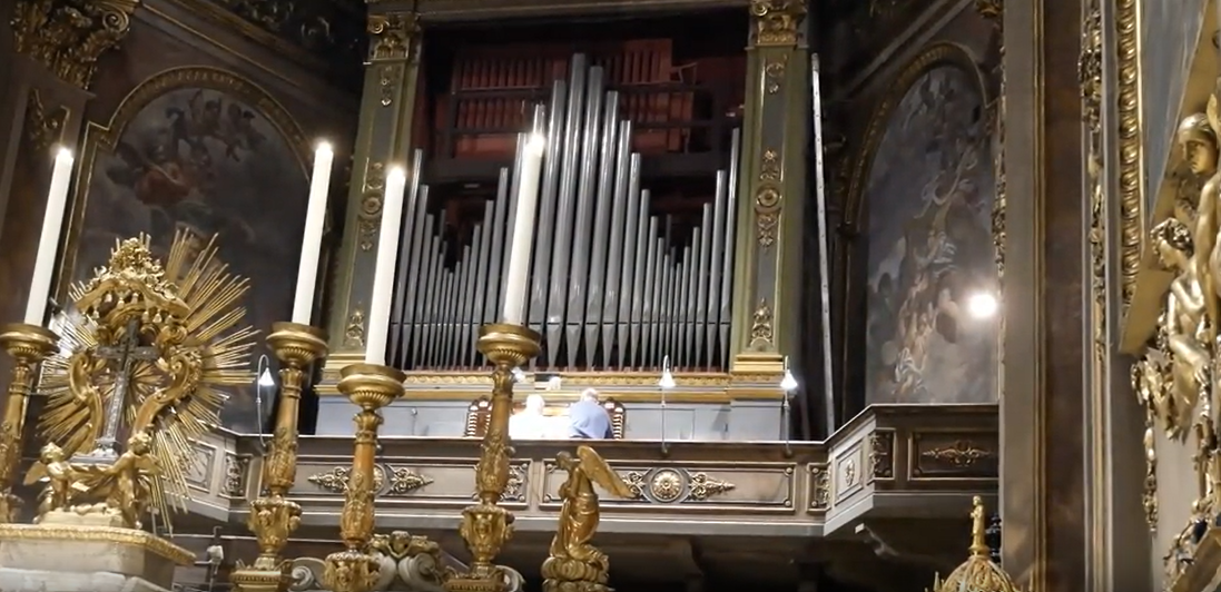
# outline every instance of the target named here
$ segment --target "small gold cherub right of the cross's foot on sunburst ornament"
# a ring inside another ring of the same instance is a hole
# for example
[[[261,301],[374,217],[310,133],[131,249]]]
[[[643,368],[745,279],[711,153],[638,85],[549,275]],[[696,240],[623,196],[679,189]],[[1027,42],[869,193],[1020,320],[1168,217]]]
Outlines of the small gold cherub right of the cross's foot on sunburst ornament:
[[[140,516],[153,496],[150,481],[159,467],[151,453],[153,438],[147,432],[136,432],[115,464],[81,467],[88,496],[100,499],[105,511],[117,514],[128,529],[140,527]]]

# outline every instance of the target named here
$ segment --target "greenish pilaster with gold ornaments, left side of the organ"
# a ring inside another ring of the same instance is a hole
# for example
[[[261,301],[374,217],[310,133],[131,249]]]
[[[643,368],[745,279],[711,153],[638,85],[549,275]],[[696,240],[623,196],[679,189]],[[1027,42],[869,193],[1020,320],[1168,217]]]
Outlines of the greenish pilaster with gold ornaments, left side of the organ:
[[[386,175],[410,165],[411,120],[420,70],[419,15],[382,12],[369,4],[369,61],[344,212],[343,242],[336,254],[335,298],[327,316],[331,355],[319,389],[335,394],[341,367],[360,361],[366,328],[389,319],[370,319],[374,264],[381,229]],[[408,171],[410,177],[411,171]]]

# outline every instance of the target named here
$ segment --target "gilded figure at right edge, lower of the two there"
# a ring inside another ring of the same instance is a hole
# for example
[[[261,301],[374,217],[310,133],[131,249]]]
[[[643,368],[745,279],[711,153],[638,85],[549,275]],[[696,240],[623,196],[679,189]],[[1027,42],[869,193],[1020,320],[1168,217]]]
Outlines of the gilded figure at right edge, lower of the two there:
[[[1210,386],[1211,358],[1204,341],[1205,303],[1195,273],[1195,248],[1190,231],[1177,218],[1166,218],[1153,229],[1153,243],[1162,266],[1175,273],[1161,316],[1173,372],[1173,394],[1179,425],[1188,425],[1200,392]],[[1187,415],[1183,417],[1183,415]]]

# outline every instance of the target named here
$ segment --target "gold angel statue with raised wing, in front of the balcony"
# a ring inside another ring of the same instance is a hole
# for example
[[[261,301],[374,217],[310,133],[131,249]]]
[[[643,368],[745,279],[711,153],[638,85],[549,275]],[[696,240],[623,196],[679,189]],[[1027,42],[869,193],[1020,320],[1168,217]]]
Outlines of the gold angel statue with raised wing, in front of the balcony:
[[[576,448],[576,458],[565,452],[557,454],[556,463],[568,471],[568,480],[559,486],[564,505],[549,557],[542,564],[543,591],[604,592],[609,590],[610,560],[590,543],[600,519],[593,486],[621,498],[630,498],[631,488],[587,446]]]

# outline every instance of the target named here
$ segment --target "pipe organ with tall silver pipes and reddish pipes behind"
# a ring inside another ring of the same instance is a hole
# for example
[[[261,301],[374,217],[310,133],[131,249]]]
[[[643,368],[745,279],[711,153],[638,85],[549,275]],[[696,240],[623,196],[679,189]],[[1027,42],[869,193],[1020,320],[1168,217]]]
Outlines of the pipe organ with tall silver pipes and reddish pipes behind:
[[[558,61],[543,55],[516,60],[509,74],[498,74],[504,68],[495,61],[480,70],[463,66],[477,60],[458,60],[453,88],[468,93],[498,85],[499,93],[451,104],[448,112],[460,122],[452,128],[453,150],[476,155],[503,148],[518,156],[499,170],[495,198],[484,203],[469,240],[455,242],[444,226],[446,209],[457,206],[431,204],[436,195],[424,183],[416,153],[399,243],[391,364],[404,370],[484,364],[475,338],[479,326],[501,311],[516,168],[536,129],[546,134],[547,149],[527,322],[543,336],[540,369],[654,369],[665,358],[675,369],[728,367],[740,134],[730,134],[728,157],[708,179],[713,197],[701,204],[696,223],[679,227],[658,214],[641,176],[642,157],[681,150],[686,137],[674,127],[657,127],[654,134],[639,128],[654,129],[647,127],[650,117],[690,120],[684,110],[690,111],[691,99],[675,99],[664,88],[619,90],[617,81],[672,74],[668,61],[640,55],[668,52],[646,46],[593,63],[585,54]],[[524,94],[507,95],[507,77]],[[542,79],[553,81],[546,105],[530,94]],[[496,131],[503,129],[513,133],[498,138]]]

